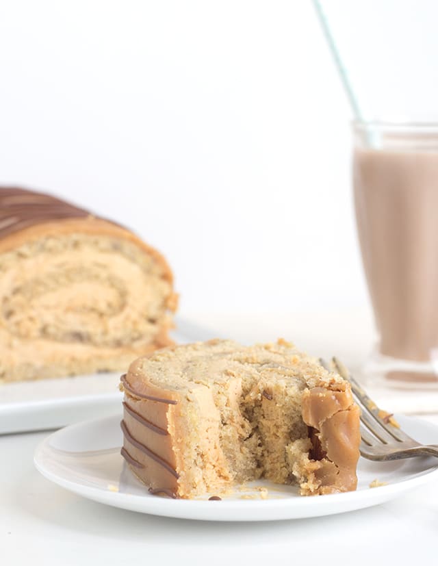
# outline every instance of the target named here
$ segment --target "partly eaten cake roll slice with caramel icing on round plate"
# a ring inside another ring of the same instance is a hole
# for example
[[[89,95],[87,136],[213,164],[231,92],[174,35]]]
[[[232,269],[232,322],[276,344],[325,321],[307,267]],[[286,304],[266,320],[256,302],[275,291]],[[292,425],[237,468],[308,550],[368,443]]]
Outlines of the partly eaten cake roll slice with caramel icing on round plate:
[[[120,388],[121,453],[153,493],[194,498],[262,477],[302,495],[356,489],[350,384],[283,340],[164,348],[131,363]]]

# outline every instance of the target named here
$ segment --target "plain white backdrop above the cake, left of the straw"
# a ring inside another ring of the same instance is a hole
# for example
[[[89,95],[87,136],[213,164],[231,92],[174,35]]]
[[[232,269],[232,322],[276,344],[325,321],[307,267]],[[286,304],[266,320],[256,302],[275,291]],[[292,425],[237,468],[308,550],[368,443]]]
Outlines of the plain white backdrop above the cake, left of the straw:
[[[181,312],[368,309],[310,1],[3,1],[0,182],[132,227]]]

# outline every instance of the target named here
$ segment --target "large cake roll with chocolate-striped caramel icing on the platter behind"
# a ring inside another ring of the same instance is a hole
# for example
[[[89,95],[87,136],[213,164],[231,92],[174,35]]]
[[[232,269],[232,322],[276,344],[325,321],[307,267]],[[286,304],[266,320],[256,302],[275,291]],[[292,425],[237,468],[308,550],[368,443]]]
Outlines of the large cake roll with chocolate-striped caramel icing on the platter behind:
[[[172,272],[126,228],[0,189],[0,381],[121,371],[172,344]]]

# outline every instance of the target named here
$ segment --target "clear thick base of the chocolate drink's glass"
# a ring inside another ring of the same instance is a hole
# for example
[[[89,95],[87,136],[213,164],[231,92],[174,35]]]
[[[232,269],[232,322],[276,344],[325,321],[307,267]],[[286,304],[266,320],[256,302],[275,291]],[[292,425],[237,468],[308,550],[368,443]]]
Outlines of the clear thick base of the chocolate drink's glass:
[[[372,352],[361,368],[363,383],[393,389],[438,391],[438,358],[418,362]]]

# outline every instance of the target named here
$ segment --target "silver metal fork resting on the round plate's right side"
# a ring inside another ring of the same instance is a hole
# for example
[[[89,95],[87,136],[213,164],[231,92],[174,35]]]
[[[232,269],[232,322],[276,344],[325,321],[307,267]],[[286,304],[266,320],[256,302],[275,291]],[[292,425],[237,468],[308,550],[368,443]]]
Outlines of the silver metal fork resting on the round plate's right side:
[[[353,397],[361,409],[361,455],[369,460],[399,460],[414,456],[437,456],[437,444],[420,444],[400,428],[394,417],[379,409],[374,401],[363,391],[345,365],[332,358],[329,365],[320,358],[320,364],[329,372],[336,372],[350,381]]]

